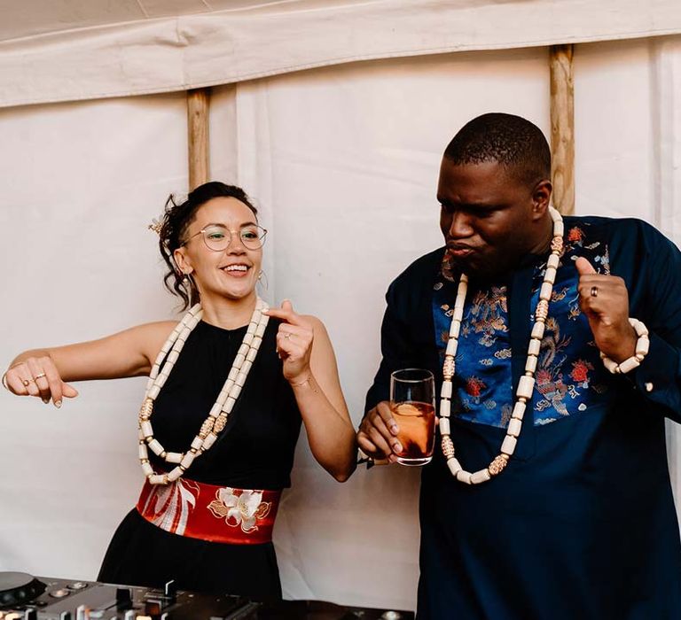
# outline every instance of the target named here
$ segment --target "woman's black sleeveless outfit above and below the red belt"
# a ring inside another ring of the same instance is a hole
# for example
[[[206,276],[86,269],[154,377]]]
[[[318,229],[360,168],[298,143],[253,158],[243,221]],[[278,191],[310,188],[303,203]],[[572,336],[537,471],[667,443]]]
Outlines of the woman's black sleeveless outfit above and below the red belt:
[[[227,426],[185,478],[240,489],[290,486],[301,414],[276,353],[278,324],[270,319]],[[192,330],[153,407],[154,436],[168,452],[189,448],[227,379],[246,329],[200,322]],[[149,456],[154,465],[168,469],[151,451]],[[183,590],[241,594],[256,601],[281,598],[272,543],[230,545],[178,536],[145,521],[136,509],[114,533],[98,579],[154,587],[174,579]]]

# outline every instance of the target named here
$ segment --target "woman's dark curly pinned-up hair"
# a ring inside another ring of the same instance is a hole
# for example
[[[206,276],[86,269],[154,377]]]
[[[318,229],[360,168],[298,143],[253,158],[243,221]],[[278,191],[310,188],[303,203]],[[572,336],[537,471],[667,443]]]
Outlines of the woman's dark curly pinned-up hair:
[[[211,181],[200,185],[190,192],[184,202],[176,203],[170,194],[166,201],[163,219],[160,221],[159,249],[160,255],[168,266],[163,283],[168,291],[181,298],[182,309],[186,310],[199,301],[199,291],[190,276],[184,275],[176,266],[173,252],[186,241],[186,232],[194,221],[194,216],[201,205],[212,198],[236,198],[247,205],[257,218],[258,210],[251,204],[247,193],[236,185],[227,185],[219,181]]]

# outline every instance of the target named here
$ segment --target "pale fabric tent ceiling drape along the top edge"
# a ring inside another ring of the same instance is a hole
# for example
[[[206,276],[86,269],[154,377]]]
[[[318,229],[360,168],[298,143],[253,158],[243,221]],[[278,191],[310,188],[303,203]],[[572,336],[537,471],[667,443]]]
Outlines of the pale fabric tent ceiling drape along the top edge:
[[[4,0],[0,11],[0,107],[681,33],[678,0]]]

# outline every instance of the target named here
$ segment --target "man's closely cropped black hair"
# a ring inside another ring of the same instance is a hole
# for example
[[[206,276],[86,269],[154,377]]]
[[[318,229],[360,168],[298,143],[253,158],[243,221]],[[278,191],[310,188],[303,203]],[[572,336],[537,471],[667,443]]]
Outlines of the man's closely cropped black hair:
[[[456,165],[496,161],[531,186],[551,179],[551,149],[544,134],[514,114],[490,112],[468,121],[447,145],[444,157]]]

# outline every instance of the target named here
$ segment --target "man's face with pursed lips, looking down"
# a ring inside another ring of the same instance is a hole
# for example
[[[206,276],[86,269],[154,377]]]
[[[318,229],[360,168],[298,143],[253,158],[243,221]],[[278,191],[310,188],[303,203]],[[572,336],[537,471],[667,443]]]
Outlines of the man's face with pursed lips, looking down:
[[[496,161],[459,166],[442,159],[437,187],[440,229],[455,265],[479,276],[513,269],[523,254],[541,243],[543,229],[537,221],[545,208],[537,211],[536,198],[536,188]]]

